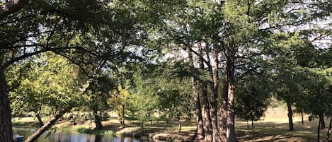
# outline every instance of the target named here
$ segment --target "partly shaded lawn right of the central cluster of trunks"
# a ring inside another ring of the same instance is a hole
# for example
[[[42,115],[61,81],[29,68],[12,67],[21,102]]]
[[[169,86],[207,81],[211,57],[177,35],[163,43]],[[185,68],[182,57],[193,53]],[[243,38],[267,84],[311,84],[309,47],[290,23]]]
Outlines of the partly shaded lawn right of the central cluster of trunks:
[[[254,132],[247,129],[246,122],[236,122],[236,136],[239,141],[317,141],[319,119],[309,122],[308,117],[304,115],[301,124],[301,116],[294,114],[294,131],[289,131],[287,111],[282,107],[270,108],[263,120],[254,122]],[[326,126],[329,123],[330,119],[325,118]],[[327,130],[321,130],[320,135],[321,141],[326,141]]]

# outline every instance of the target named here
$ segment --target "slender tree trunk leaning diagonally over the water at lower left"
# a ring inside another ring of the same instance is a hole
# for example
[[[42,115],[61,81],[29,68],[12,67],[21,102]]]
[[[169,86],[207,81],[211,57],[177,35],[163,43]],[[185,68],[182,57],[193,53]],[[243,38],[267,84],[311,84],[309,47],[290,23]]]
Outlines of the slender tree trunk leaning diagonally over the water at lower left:
[[[61,114],[58,114],[57,116],[55,116],[52,119],[50,119],[49,122],[47,122],[46,124],[44,124],[43,126],[41,126],[37,131],[35,131],[34,134],[32,134],[31,136],[29,136],[24,142],[33,142],[33,141],[36,141],[37,138],[39,138],[39,136],[42,135],[47,129],[50,129],[50,127],[53,126],[53,124],[55,124],[55,122],[57,122],[57,119],[59,119],[60,117],[62,117],[62,115],[64,113],[65,112],[62,112]]]

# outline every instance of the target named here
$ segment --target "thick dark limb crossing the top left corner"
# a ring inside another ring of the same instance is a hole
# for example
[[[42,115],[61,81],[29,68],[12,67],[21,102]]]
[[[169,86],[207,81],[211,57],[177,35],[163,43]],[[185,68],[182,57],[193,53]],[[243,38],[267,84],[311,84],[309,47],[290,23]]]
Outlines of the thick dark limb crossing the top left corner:
[[[0,20],[6,18],[12,13],[21,11],[23,6],[28,3],[29,0],[12,0],[6,2],[4,5],[0,6]]]

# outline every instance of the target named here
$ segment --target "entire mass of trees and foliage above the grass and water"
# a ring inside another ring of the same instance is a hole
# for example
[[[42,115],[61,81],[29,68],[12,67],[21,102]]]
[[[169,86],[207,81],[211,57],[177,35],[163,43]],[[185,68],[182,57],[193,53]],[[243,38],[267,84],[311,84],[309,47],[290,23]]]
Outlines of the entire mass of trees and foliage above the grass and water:
[[[97,129],[110,111],[122,128],[196,117],[195,140],[237,141],[235,117],[260,119],[271,97],[291,131],[294,110],[323,123],[331,13],[324,0],[0,1],[0,141],[12,115],[51,118],[34,141],[80,108]]]

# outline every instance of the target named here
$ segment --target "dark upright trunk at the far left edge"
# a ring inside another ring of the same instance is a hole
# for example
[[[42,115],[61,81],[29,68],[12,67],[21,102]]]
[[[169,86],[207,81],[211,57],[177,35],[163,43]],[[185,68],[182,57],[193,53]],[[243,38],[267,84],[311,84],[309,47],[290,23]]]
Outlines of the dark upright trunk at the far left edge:
[[[7,92],[7,82],[1,61],[0,61],[0,141],[13,142],[11,107]]]

